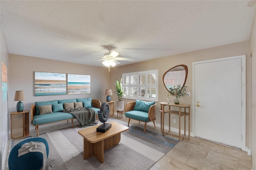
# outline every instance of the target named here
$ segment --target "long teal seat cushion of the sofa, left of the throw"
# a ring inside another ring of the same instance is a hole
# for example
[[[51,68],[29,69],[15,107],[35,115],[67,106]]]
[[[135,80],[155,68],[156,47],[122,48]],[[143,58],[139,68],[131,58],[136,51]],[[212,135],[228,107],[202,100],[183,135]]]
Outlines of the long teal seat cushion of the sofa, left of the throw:
[[[65,112],[56,112],[52,114],[45,114],[45,115],[35,115],[33,117],[33,125],[42,125],[46,123],[52,123],[57,121],[63,121],[67,119],[75,118],[71,113]]]

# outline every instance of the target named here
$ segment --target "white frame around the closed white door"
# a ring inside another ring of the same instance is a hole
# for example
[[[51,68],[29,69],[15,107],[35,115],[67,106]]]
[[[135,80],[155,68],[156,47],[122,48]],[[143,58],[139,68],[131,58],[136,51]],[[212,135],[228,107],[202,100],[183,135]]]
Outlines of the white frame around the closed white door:
[[[209,63],[209,62],[215,62],[215,61],[225,61],[230,59],[241,59],[242,60],[242,116],[241,116],[241,122],[242,122],[242,144],[241,148],[243,151],[246,151],[246,55],[238,55],[234,57],[225,57],[225,58],[219,58],[219,59],[211,59],[206,61],[197,61],[192,63],[192,113],[194,115],[192,116],[192,130],[193,130],[193,136],[195,136],[195,65],[200,63]]]

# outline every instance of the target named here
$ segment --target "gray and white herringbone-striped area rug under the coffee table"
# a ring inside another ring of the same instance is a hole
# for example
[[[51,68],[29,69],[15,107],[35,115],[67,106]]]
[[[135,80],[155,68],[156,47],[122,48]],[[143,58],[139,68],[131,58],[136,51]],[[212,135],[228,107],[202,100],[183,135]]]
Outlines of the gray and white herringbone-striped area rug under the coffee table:
[[[127,123],[117,119],[109,118],[110,121],[127,126]],[[83,159],[83,138],[78,134],[81,130],[79,125],[42,133],[39,137],[48,142],[48,160],[54,164],[53,170],[147,170],[179,142],[148,130],[144,134],[142,128],[134,125],[129,127],[121,133],[118,145],[104,151],[104,163],[94,156]],[[12,140],[9,153],[12,147],[25,139]]]

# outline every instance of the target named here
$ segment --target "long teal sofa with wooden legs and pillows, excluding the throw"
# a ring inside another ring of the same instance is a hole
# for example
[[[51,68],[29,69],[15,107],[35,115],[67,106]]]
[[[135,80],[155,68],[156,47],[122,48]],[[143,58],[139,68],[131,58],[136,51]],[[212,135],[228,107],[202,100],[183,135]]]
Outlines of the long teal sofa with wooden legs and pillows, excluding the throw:
[[[31,124],[36,128],[37,136],[38,126],[40,125],[59,121],[67,121],[68,123],[71,120],[72,126],[74,127],[73,119],[76,118],[71,113],[62,112],[65,108],[64,106],[71,103],[74,103],[74,105],[80,104],[80,107],[93,109],[98,119],[98,111],[100,111],[101,103],[96,99],[83,98],[35,102],[31,106]]]

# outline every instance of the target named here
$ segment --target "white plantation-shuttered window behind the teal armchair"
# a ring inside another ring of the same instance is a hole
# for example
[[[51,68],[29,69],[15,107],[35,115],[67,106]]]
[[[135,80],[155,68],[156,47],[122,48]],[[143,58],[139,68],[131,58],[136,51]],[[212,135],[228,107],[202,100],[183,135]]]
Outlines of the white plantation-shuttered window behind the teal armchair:
[[[158,70],[122,74],[124,99],[158,101]]]

